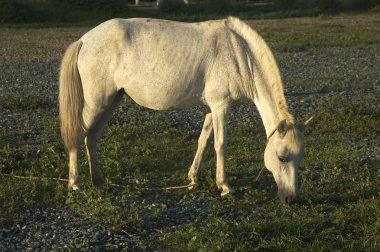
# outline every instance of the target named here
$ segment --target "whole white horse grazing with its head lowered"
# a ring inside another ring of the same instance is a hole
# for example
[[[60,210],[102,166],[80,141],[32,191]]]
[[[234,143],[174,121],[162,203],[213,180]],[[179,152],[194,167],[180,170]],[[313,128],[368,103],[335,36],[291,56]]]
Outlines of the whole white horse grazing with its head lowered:
[[[154,110],[206,105],[198,149],[188,177],[193,185],[214,132],[216,184],[225,177],[226,121],[230,105],[253,101],[265,126],[264,161],[282,202],[298,195],[302,127],[288,112],[280,72],[264,40],[237,18],[201,23],[113,19],[72,43],[62,60],[59,110],[69,153],[69,188],[79,188],[78,148],[85,140],[94,185],[103,183],[96,145],[124,94]]]

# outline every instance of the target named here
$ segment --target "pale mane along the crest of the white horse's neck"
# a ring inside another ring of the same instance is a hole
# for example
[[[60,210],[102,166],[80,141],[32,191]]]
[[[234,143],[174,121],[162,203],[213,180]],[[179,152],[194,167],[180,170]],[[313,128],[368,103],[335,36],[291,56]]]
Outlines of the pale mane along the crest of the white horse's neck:
[[[258,59],[255,64],[260,65],[263,74],[269,80],[269,88],[273,92],[279,113],[287,122],[294,123],[294,117],[289,113],[285,100],[280,71],[267,43],[256,31],[238,18],[229,17],[226,24],[246,41],[255,58]]]

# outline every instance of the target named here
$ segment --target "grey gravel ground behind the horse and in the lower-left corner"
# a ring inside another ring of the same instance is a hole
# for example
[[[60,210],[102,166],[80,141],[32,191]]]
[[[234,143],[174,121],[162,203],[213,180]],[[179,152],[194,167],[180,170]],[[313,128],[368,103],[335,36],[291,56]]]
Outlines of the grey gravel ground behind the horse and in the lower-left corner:
[[[358,106],[360,100],[356,97],[363,94],[374,94],[380,99],[379,45],[277,53],[276,57],[286,83],[290,110],[297,116],[312,115],[314,110],[331,99],[350,100],[357,102]],[[42,97],[46,106],[52,108],[52,113],[57,114],[59,61],[32,60],[20,64],[4,59],[0,54],[0,100],[9,95]],[[128,113],[125,112],[126,106],[122,105],[118,113]],[[374,106],[379,113],[379,103]],[[172,125],[199,133],[205,111],[204,108],[195,108],[184,112],[160,112],[158,116],[167,119]],[[142,110],[136,113],[153,112]],[[38,113],[1,108],[0,132],[18,132],[25,125],[38,129],[36,117]],[[243,104],[234,107],[231,112],[231,124],[237,120],[249,122],[260,119],[253,105]],[[36,146],[44,144],[43,132],[36,131],[28,141]],[[364,141],[355,144],[358,149],[364,149],[367,156],[379,157],[378,143]],[[0,222],[0,251],[133,249],[131,241],[139,235],[92,223],[68,207],[20,208],[16,212],[17,216],[12,217],[12,222]],[[138,239],[144,238],[139,236]]]

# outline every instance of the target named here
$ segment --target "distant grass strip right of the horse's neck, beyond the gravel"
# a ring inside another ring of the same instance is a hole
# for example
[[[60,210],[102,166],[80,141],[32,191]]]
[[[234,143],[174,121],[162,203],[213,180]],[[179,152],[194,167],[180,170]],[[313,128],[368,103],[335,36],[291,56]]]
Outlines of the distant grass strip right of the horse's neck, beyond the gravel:
[[[280,51],[380,43],[379,15],[255,20],[249,24]]]

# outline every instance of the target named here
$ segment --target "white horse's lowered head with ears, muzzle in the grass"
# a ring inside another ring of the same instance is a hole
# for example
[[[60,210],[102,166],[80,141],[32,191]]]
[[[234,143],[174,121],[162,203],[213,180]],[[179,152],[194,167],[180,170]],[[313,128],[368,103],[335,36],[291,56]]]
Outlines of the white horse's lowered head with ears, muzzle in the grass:
[[[298,197],[298,167],[304,152],[303,126],[310,119],[297,126],[283,120],[269,135],[264,162],[276,180],[282,203],[290,204]]]

